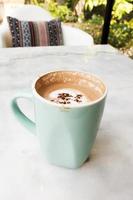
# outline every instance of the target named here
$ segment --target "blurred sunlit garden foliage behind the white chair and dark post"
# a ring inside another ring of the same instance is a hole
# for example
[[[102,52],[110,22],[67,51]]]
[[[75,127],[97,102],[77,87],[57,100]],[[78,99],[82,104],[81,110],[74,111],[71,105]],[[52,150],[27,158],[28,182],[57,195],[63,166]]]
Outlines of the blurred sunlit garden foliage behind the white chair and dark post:
[[[95,43],[101,42],[107,0],[26,1],[45,7],[61,21],[90,33]],[[133,0],[115,0],[108,42],[133,58]]]

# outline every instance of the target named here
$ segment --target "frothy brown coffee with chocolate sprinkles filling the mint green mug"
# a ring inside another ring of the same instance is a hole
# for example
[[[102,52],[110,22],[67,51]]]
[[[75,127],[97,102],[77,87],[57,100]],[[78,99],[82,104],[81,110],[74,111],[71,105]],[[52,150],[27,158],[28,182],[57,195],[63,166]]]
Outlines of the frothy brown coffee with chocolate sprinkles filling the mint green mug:
[[[41,77],[36,90],[43,98],[62,105],[85,105],[97,100],[104,93],[102,83],[79,72],[54,72]]]

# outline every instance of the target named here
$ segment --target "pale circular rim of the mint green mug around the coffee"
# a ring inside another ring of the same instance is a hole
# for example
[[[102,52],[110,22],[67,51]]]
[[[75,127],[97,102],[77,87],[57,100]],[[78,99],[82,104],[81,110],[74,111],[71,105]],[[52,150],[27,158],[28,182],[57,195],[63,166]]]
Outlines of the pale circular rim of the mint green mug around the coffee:
[[[70,105],[68,105],[68,104],[64,104],[64,105],[62,105],[62,104],[56,104],[56,103],[51,102],[51,101],[45,99],[44,97],[42,97],[42,96],[37,92],[37,90],[36,90],[36,88],[35,88],[35,85],[36,85],[37,81],[38,81],[41,77],[43,77],[43,76],[45,76],[45,75],[47,75],[47,74],[54,73],[54,72],[78,72],[78,73],[84,73],[84,74],[88,74],[88,75],[90,75],[90,76],[94,76],[96,79],[98,79],[98,80],[100,80],[100,81],[102,82],[102,84],[103,84],[104,87],[105,87],[105,91],[104,91],[103,95],[102,95],[100,98],[98,98],[98,99],[95,100],[95,101],[91,101],[91,102],[89,102],[89,103],[86,103],[86,104],[81,104],[81,105],[79,105],[79,104],[75,104],[75,105],[72,105],[72,104],[70,104]],[[88,107],[88,106],[92,106],[92,105],[97,104],[98,102],[102,101],[102,100],[107,96],[108,88],[107,88],[107,85],[105,84],[105,82],[104,82],[98,75],[96,75],[96,74],[93,74],[93,73],[90,73],[90,72],[84,72],[84,71],[80,71],[80,70],[66,70],[66,69],[61,69],[61,70],[51,70],[51,71],[48,71],[48,72],[46,72],[46,73],[40,74],[40,75],[32,82],[32,92],[33,92],[33,95],[34,95],[35,97],[37,97],[41,102],[45,102],[45,103],[47,103],[47,104],[49,104],[49,105],[51,105],[51,106],[55,106],[55,107],[59,107],[59,108],[68,108],[68,109],[69,109],[69,108]]]

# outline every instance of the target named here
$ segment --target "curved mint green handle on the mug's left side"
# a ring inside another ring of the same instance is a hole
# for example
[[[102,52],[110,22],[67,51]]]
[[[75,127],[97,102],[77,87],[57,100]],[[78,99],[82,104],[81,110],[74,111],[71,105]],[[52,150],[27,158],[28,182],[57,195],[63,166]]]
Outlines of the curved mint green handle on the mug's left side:
[[[20,121],[20,123],[25,126],[33,135],[36,135],[36,126],[35,122],[33,122],[31,119],[29,119],[19,108],[17,100],[18,99],[27,99],[29,101],[32,101],[32,95],[28,93],[23,93],[20,95],[17,95],[12,101],[11,101],[11,108],[17,119]]]

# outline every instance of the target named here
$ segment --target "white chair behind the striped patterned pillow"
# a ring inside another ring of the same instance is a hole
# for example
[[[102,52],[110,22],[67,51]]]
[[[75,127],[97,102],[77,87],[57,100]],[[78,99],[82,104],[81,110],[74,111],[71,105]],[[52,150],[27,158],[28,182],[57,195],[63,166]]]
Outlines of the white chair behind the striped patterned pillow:
[[[6,19],[7,16],[27,21],[48,21],[53,19],[48,11],[45,11],[43,8],[35,5],[5,5],[3,23],[0,25],[0,47],[12,47],[9,26]],[[94,44],[92,36],[78,28],[70,27],[62,23],[62,32],[64,45],[91,46]]]

